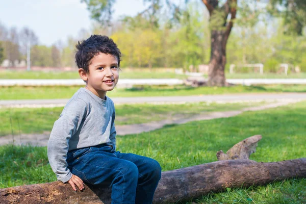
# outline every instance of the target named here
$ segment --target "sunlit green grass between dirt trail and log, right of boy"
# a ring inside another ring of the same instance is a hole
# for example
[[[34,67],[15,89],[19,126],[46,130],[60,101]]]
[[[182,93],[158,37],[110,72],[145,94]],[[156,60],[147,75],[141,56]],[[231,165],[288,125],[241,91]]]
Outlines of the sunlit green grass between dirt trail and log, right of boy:
[[[236,117],[168,125],[149,133],[119,137],[118,145],[123,152],[132,148],[136,154],[160,158],[163,170],[216,161],[217,150],[228,150],[257,134],[263,139],[252,160],[275,162],[306,157],[305,108],[303,101]]]

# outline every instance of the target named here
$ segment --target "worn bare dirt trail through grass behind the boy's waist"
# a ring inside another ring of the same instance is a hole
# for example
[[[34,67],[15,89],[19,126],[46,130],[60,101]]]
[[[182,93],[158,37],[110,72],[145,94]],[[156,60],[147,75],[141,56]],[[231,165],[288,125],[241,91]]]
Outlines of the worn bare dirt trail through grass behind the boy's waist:
[[[142,123],[142,124],[131,124],[131,125],[116,125],[116,131],[118,135],[129,135],[129,134],[139,134],[142,132],[149,132],[153,130],[157,130],[162,128],[164,125],[167,124],[183,124],[190,121],[196,120],[210,120],[216,118],[227,118],[239,115],[245,111],[259,111],[265,110],[270,108],[276,108],[279,106],[286,106],[289,104],[294,104],[301,101],[301,99],[287,99],[278,101],[276,103],[267,104],[258,107],[249,107],[244,108],[238,111],[223,111],[223,112],[202,112],[195,115],[180,115],[180,117],[172,117],[166,120]],[[43,134],[21,134],[3,136],[0,137],[0,145],[5,145],[9,143],[14,143],[15,145],[20,144],[31,144],[35,146],[46,146],[48,142],[50,133],[43,133]]]

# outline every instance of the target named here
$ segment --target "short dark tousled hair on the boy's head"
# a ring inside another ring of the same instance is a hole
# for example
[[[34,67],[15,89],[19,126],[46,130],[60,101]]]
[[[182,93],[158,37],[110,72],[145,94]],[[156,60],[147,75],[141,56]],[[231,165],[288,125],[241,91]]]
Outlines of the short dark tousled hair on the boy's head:
[[[117,58],[120,67],[121,52],[117,44],[109,37],[102,35],[92,35],[86,40],[79,41],[75,53],[75,63],[79,68],[83,68],[85,73],[89,73],[90,60],[99,53],[110,54]]]

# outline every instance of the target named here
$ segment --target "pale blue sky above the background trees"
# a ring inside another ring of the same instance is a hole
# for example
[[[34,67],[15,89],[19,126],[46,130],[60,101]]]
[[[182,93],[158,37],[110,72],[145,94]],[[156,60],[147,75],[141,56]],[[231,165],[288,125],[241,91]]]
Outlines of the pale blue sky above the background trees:
[[[180,2],[175,0],[174,2]],[[38,36],[39,43],[52,45],[77,37],[81,29],[90,30],[93,20],[81,0],[0,0],[0,23],[6,28],[28,27]],[[136,15],[146,8],[142,0],[117,0],[113,19]]]

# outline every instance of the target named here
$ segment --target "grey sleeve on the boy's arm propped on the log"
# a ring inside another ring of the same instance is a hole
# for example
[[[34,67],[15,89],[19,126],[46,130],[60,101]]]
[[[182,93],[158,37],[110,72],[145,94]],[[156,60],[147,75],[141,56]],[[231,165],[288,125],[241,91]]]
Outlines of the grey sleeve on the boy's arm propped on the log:
[[[48,160],[58,181],[67,182],[71,179],[71,172],[67,168],[67,152],[69,139],[78,131],[80,124],[87,114],[84,100],[75,98],[64,108],[60,118],[55,121],[48,141]]]

